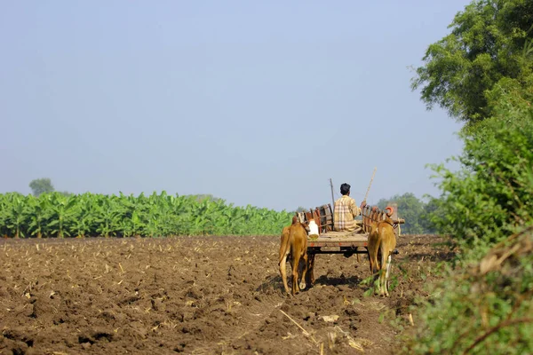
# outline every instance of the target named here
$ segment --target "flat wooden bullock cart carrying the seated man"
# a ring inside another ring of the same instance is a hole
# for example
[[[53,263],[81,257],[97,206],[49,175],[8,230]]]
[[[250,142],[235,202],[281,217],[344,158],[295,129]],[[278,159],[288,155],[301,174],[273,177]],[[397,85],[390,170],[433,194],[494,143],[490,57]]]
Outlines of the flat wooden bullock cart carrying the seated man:
[[[398,217],[396,206],[393,206],[394,233],[396,238],[400,236],[400,225],[405,220]],[[343,254],[346,257],[354,254],[367,254],[368,241],[370,234],[370,225],[378,220],[384,219],[386,212],[377,208],[365,206],[362,209],[361,219],[356,220],[356,228],[352,233],[333,231],[333,210],[331,205],[322,205],[309,211],[299,212],[298,218],[305,225],[311,219],[320,221],[318,237],[307,237],[307,254],[314,256],[316,254]],[[318,218],[314,218],[318,217]],[[357,256],[359,259],[359,256]]]

